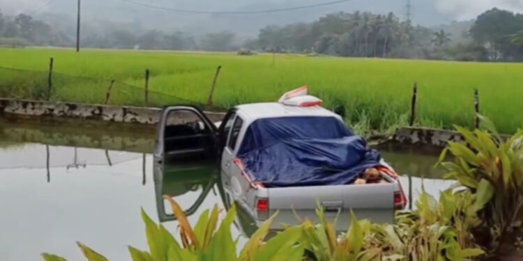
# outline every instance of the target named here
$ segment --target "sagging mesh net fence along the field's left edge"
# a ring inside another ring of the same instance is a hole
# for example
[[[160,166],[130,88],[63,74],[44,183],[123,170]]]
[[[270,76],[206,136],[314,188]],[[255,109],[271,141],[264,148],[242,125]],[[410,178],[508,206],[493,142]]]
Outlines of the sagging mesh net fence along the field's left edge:
[[[165,106],[188,104],[222,109],[167,93],[146,90],[114,79],[78,77],[57,72],[39,72],[0,67],[0,97],[114,104],[128,106]]]

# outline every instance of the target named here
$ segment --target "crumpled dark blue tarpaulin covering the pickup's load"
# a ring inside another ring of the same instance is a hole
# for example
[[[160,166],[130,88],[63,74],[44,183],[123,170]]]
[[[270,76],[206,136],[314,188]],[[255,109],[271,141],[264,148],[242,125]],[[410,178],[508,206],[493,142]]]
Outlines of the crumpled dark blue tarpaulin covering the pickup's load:
[[[351,184],[380,160],[342,121],[312,116],[252,122],[238,157],[266,187]]]

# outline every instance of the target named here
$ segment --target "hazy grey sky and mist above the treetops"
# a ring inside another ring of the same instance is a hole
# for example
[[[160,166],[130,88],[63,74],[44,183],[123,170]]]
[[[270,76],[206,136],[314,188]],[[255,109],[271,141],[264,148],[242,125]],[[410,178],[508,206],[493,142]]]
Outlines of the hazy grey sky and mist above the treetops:
[[[51,0],[0,0],[0,10],[10,15],[29,13]],[[149,3],[154,6],[204,11],[227,10],[264,10],[270,8],[287,8],[310,5],[333,0],[133,0]],[[523,0],[411,0],[413,20],[418,24],[434,26],[452,20],[467,20],[480,13],[497,7],[523,13]],[[168,26],[181,30],[231,30],[238,33],[257,33],[267,24],[290,24],[293,22],[310,22],[327,13],[354,10],[372,13],[393,12],[404,19],[407,0],[353,0],[331,6],[321,6],[290,12],[268,13],[260,15],[184,15],[154,10],[143,6],[124,3],[121,0],[82,0],[82,17],[84,22],[133,22],[140,21],[148,28],[165,29]],[[36,17],[45,13],[67,14],[75,17],[76,0],[52,0]],[[56,16],[56,15],[55,15]],[[64,24],[64,23],[62,23]]]

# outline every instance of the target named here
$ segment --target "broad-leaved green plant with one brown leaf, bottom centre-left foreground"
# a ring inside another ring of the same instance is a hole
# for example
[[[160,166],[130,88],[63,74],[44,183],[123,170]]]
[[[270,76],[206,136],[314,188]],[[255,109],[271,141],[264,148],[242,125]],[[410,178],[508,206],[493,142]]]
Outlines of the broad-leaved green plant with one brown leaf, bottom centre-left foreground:
[[[236,217],[234,205],[229,209],[220,226],[218,226],[218,206],[215,206],[211,211],[206,210],[192,228],[181,207],[170,196],[165,196],[165,199],[171,203],[173,213],[179,221],[181,244],[164,226],[154,223],[142,209],[149,251],[141,251],[129,246],[133,261],[299,261],[303,258],[305,247],[298,243],[298,239],[302,236],[300,227],[288,228],[264,242],[273,222],[273,216],[252,235],[238,256],[236,241],[232,239],[230,228]],[[78,246],[89,261],[107,260],[103,255],[96,253],[84,244],[78,243]],[[48,253],[44,253],[43,258],[46,261],[65,260]]]

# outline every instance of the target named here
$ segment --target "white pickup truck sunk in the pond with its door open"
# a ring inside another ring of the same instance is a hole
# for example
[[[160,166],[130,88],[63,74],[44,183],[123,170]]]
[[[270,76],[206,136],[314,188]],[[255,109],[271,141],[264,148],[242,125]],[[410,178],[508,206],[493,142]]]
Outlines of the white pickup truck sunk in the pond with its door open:
[[[341,214],[343,226],[350,210],[360,219],[393,222],[407,201],[393,168],[321,106],[240,105],[219,127],[195,107],[168,106],[155,158],[218,159],[225,200],[260,222],[279,211],[278,226],[314,219],[318,205]],[[369,168],[379,170],[381,181],[355,184]]]

